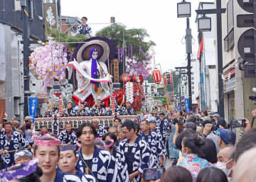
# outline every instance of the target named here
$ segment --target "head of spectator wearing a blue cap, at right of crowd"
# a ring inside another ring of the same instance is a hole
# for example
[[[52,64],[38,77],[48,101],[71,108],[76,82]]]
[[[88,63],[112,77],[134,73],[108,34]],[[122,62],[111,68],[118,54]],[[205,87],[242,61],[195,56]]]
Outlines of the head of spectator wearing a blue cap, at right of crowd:
[[[228,129],[219,128],[217,130],[219,134],[218,144],[220,149],[224,149],[225,147],[235,146],[235,132]]]

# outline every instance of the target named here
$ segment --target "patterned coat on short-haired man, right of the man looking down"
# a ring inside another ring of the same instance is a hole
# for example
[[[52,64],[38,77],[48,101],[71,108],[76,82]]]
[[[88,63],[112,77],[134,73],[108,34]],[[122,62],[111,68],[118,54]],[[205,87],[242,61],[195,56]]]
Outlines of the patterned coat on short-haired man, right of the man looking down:
[[[164,142],[161,140],[161,135],[149,130],[149,135],[144,135],[142,132],[142,140],[145,140],[149,144],[151,150],[152,162],[149,168],[159,168],[159,157],[165,153]]]

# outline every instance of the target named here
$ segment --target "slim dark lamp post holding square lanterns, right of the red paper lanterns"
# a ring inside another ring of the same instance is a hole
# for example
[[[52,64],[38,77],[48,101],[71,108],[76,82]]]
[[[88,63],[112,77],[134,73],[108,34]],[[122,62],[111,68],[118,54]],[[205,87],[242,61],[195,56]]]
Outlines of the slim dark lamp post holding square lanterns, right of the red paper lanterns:
[[[189,27],[189,18],[186,18],[187,28],[186,28],[186,53],[188,55],[188,100],[189,100],[189,110],[192,110],[192,91],[191,91],[191,53],[192,53],[192,35],[191,28]]]

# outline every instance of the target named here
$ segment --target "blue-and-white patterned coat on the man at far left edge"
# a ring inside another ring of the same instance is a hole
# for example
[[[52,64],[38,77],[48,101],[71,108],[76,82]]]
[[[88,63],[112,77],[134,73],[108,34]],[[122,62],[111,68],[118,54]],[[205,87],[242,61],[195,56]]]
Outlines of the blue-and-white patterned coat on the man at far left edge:
[[[21,135],[20,132],[16,131],[11,131],[11,137],[4,135],[3,140],[3,149],[7,149],[9,151],[23,149],[28,146],[28,142],[25,140],[25,138]],[[14,165],[14,154],[15,152],[9,152],[2,155],[5,167]]]

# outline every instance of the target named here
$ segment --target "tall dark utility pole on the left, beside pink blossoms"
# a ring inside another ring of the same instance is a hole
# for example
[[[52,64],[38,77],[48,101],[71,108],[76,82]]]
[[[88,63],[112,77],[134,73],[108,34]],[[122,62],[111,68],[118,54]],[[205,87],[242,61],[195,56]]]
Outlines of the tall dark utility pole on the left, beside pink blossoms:
[[[21,13],[23,21],[23,71],[24,71],[24,116],[29,115],[28,111],[28,97],[29,93],[29,67],[28,67],[28,56],[29,56],[29,24],[28,24],[28,4],[26,0],[21,0]]]

